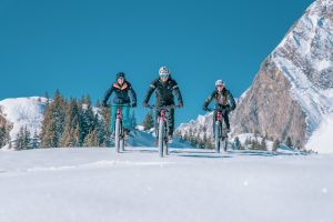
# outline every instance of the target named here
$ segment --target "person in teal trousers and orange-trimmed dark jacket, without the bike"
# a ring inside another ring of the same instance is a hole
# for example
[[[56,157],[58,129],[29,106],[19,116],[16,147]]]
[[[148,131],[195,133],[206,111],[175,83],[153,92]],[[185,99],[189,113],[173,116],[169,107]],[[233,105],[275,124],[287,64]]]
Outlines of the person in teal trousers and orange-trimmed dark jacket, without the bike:
[[[130,107],[137,107],[137,93],[133,90],[130,82],[125,80],[125,74],[123,72],[119,72],[117,74],[115,82],[108,89],[104,100],[103,107],[108,107],[108,100],[112,93],[115,93],[113,98],[113,104],[111,110],[111,125],[110,131],[112,132],[111,138],[114,139],[114,123],[117,109],[120,107],[122,109],[122,118],[123,118],[123,132],[128,138],[130,134]]]

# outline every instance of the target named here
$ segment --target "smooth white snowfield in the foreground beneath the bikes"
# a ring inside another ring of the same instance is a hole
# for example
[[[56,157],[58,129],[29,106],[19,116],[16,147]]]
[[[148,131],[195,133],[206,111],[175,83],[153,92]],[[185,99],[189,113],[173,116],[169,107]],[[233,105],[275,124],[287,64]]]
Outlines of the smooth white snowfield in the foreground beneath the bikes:
[[[331,222],[332,154],[0,151],[3,222]]]

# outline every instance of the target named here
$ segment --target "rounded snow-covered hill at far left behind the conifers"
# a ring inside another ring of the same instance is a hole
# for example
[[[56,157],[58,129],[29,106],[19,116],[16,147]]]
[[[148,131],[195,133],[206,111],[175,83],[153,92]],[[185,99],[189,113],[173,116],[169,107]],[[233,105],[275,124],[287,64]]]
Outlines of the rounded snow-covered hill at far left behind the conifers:
[[[10,132],[12,140],[16,139],[21,127],[27,125],[30,133],[41,130],[41,121],[47,99],[40,97],[17,98],[0,101],[6,119],[13,124]]]

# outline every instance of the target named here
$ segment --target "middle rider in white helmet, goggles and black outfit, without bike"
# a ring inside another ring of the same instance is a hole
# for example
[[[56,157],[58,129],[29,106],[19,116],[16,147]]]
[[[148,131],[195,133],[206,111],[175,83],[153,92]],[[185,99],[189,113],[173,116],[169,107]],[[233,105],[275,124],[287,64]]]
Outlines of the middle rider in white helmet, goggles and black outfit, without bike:
[[[158,130],[158,118],[160,115],[161,107],[168,107],[167,111],[167,124],[168,124],[168,134],[169,142],[173,139],[174,130],[174,97],[178,99],[178,107],[183,107],[182,94],[179,90],[178,83],[171,78],[171,73],[167,67],[161,67],[159,70],[160,77],[155,79],[147,92],[147,95],[143,101],[143,107],[148,107],[151,94],[155,91],[157,101],[155,101],[155,130]]]

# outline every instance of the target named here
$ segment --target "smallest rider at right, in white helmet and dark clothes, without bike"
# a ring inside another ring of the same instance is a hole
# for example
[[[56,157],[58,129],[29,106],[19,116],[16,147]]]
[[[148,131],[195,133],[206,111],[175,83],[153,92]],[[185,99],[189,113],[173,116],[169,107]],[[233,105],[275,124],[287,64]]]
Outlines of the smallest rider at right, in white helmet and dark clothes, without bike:
[[[222,80],[218,80],[215,82],[215,90],[211,93],[211,95],[204,101],[202,109],[204,111],[209,111],[209,104],[215,100],[215,109],[222,110],[223,120],[226,125],[226,132],[230,132],[230,122],[229,122],[229,112],[234,110],[236,104],[231,94],[231,92],[225,88],[225,84]],[[214,111],[214,121],[216,121],[216,111]],[[213,133],[215,134],[215,128],[213,125]],[[214,137],[213,137],[214,138]]]

